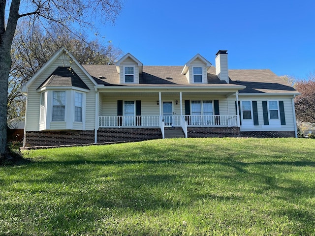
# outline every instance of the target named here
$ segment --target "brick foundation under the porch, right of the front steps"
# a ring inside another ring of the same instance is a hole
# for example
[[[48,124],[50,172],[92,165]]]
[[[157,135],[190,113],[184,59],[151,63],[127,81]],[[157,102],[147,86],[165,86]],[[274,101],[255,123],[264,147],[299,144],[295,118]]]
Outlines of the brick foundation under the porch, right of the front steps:
[[[239,137],[239,127],[188,127],[189,138]]]

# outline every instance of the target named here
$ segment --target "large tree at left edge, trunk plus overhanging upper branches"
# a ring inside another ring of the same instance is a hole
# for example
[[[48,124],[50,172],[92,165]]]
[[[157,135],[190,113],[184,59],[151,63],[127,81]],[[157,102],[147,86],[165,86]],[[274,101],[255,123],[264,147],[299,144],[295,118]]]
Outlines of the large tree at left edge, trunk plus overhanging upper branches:
[[[7,147],[7,91],[11,68],[11,46],[19,19],[28,19],[28,29],[35,23],[52,28],[95,29],[99,22],[114,21],[122,0],[0,0],[0,159]]]

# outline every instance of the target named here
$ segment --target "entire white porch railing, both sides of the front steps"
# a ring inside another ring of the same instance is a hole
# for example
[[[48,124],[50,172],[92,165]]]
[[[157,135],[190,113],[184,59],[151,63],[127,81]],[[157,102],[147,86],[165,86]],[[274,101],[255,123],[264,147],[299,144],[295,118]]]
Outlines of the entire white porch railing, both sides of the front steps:
[[[185,128],[187,126],[237,126],[237,116],[100,116],[99,127],[161,127],[164,126]],[[183,121],[184,120],[184,121]],[[187,127],[186,127],[187,129]],[[184,130],[185,132],[185,130]]]

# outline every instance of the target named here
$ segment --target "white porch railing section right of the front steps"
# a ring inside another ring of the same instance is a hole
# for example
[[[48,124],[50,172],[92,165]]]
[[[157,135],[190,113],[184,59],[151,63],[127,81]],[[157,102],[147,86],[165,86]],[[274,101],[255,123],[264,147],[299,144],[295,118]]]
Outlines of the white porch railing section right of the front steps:
[[[237,126],[237,116],[190,115],[186,116],[188,126]]]

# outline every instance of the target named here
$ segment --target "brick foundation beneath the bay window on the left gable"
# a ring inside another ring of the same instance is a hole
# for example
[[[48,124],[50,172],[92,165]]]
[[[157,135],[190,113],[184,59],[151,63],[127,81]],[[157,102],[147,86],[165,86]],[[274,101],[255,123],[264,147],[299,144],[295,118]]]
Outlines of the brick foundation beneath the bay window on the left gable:
[[[94,130],[47,130],[26,132],[27,147],[93,143]]]

